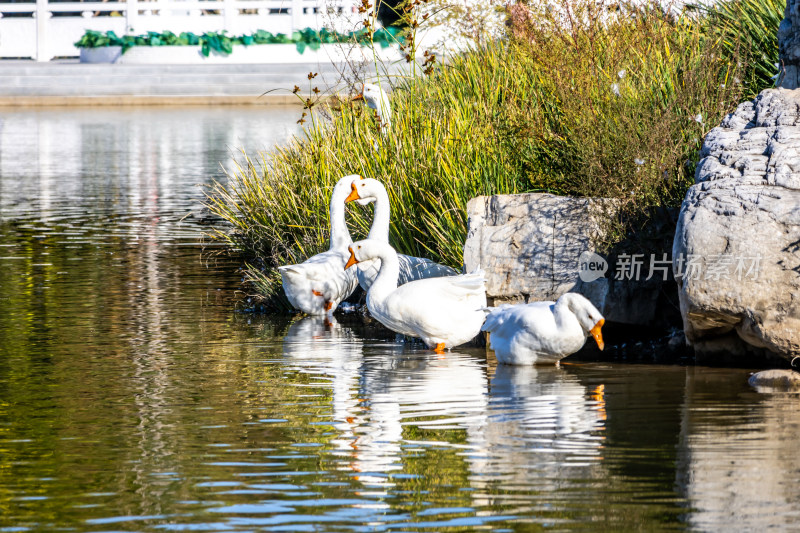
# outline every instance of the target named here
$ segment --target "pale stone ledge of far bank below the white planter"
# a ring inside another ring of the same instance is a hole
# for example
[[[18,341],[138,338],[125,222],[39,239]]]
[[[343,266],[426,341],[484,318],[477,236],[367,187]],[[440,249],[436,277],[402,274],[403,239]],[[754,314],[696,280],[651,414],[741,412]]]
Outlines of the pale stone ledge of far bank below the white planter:
[[[388,67],[388,69],[386,68]],[[349,92],[341,63],[105,64],[77,59],[0,61],[0,108],[263,106],[302,107],[314,95]],[[381,65],[382,76],[396,66]],[[310,74],[318,74],[313,80]],[[375,67],[364,70],[375,75]],[[292,93],[299,87],[297,94]]]

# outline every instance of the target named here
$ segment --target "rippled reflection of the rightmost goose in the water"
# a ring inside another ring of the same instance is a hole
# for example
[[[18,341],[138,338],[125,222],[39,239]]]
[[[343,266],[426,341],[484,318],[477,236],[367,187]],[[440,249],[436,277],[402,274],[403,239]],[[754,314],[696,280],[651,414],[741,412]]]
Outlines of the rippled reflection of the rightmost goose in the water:
[[[586,469],[586,479],[601,475],[602,386],[590,390],[563,367],[499,365],[489,391],[483,440],[474,442],[484,453],[469,458],[475,487],[502,480],[555,490],[575,468]]]

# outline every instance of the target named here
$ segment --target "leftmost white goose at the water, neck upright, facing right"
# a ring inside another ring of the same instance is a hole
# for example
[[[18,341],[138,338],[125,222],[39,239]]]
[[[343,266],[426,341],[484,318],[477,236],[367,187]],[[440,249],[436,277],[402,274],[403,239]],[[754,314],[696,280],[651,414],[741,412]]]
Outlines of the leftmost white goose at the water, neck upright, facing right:
[[[297,265],[278,267],[283,291],[289,303],[309,315],[327,315],[350,296],[358,285],[353,272],[344,265],[350,257],[347,247],[353,240],[344,221],[345,198],[352,190],[357,174],[345,176],[333,188],[330,203],[331,237],[327,252],[317,254]]]

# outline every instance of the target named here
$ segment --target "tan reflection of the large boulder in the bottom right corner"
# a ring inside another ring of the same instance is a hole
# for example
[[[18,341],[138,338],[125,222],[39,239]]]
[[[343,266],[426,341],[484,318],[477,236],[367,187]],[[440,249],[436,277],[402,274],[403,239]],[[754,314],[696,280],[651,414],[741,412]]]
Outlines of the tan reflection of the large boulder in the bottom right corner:
[[[703,531],[720,523],[797,529],[800,395],[757,394],[746,374],[740,378],[708,369],[687,374],[677,481],[688,523]]]

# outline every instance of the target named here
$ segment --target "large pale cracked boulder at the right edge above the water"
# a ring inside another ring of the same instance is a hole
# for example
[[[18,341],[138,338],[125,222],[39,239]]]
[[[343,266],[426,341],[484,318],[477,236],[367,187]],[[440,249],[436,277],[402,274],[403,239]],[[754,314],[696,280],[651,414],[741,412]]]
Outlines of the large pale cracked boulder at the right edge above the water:
[[[699,359],[800,353],[800,90],[770,89],[706,136],[673,243]]]

